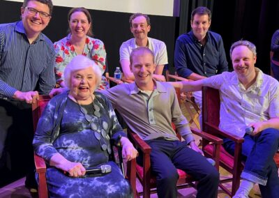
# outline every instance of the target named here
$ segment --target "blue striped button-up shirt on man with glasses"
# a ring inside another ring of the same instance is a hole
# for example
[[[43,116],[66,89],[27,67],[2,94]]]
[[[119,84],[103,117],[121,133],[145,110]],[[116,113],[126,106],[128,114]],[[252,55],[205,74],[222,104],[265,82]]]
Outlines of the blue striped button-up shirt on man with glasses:
[[[15,91],[49,94],[55,85],[54,47],[43,33],[32,44],[22,21],[0,25],[0,98]]]

